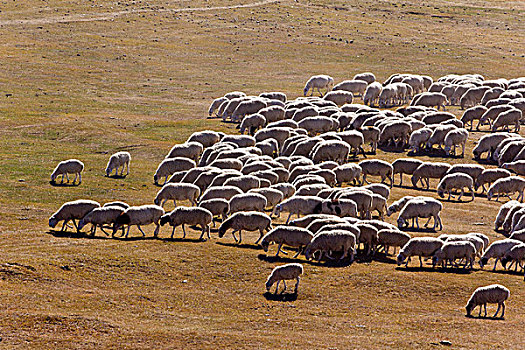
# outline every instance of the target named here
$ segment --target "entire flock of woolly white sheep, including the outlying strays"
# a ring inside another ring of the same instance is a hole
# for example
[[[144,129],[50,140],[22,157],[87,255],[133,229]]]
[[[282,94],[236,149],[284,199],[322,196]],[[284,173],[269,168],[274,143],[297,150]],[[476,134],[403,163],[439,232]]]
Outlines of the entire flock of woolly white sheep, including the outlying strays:
[[[320,97],[312,96],[314,90]],[[353,103],[355,96],[364,104]],[[375,108],[408,103],[396,111]],[[448,105],[466,108],[461,119],[445,111]],[[296,250],[294,258],[304,254],[307,260],[348,258],[352,262],[356,254],[372,258],[381,250],[388,254],[390,247],[395,254],[399,247],[399,265],[407,266],[411,257],[418,257],[420,266],[422,258],[430,258],[433,267],[459,267],[463,262],[464,268],[473,268],[479,257],[481,267],[494,258],[494,269],[498,261],[504,268],[511,262],[515,269],[523,269],[525,179],[519,175],[525,175],[525,139],[517,132],[524,111],[525,78],[485,80],[480,75],[447,75],[434,82],[428,76],[394,74],[380,84],[372,73],[362,73],[337,85],[333,78],[319,75],[308,80],[304,97],[294,100],[282,92],[259,96],[231,92],[211,103],[209,115],[238,123],[240,135],[206,130],[173,146],[153,176],[155,184],[162,186],[152,198],[154,204],[101,206],[77,200],[62,205],[49,225],[54,228],[63,221],[64,230],[72,221],[77,230],[91,224],[92,235],[100,228],[106,235],[110,232],[105,229],[110,229],[112,236],[121,230],[125,237],[131,226],[145,236],[141,226],[149,224],[155,225],[155,237],[160,226],[168,224],[173,237],[175,228],[182,225],[183,237],[189,226],[198,228],[200,239],[205,240],[205,236],[211,238],[211,225],[220,220],[219,238],[232,230],[240,243],[242,231],[258,231],[255,243],[265,252],[275,244],[276,255],[287,254],[286,247]],[[375,154],[378,147],[408,155],[441,152],[443,156],[456,156],[460,147],[464,157],[466,127],[472,130],[475,120],[478,130],[488,125],[490,132],[479,140],[473,156],[480,160],[486,154],[485,162],[498,168],[423,162],[415,157],[391,164],[379,159],[349,162]],[[127,152],[112,155],[106,175],[113,170],[117,175],[119,168],[121,176],[125,168],[129,174],[130,160]],[[83,168],[75,159],[61,162],[51,181],[62,175],[62,182],[64,176],[69,182],[68,174],[75,174],[73,183],[78,177],[80,184]],[[414,188],[429,189],[430,179],[438,179],[436,192],[448,201],[456,193],[460,201],[465,189],[471,200],[478,190],[486,192],[488,200],[518,193],[517,201],[501,206],[495,223],[495,229],[503,226],[510,237],[492,244],[481,233],[412,237],[404,231],[409,226],[419,228],[419,218],[428,219],[425,227],[433,220],[434,230],[443,228],[443,203],[426,196],[405,196],[389,206],[396,174],[400,186],[408,175]],[[380,183],[370,183],[371,177]],[[163,207],[168,201],[174,202],[175,209],[166,213]],[[177,205],[177,201],[191,206]],[[286,223],[274,227],[272,220],[282,212],[288,213]],[[397,212],[397,226],[383,221],[385,215]],[[290,221],[292,215],[297,219]],[[298,263],[276,267],[266,288],[277,283],[277,292],[280,281],[296,280],[297,292],[302,273]],[[467,304],[467,314],[477,305],[480,314],[485,305],[486,314],[486,303],[498,303],[503,316],[509,295],[500,285],[478,288]]]

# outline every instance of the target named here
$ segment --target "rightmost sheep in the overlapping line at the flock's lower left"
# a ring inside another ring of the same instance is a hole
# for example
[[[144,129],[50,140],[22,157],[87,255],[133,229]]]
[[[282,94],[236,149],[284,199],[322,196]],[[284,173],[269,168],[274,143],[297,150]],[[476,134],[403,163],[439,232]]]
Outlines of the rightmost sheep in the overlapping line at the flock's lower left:
[[[199,240],[203,240],[204,233],[207,232],[208,239],[210,239],[210,223],[213,221],[213,214],[206,208],[202,207],[177,207],[173,211],[160,218],[160,225],[164,226],[169,223],[173,226],[171,231],[171,238],[175,233],[175,228],[182,225],[182,238],[186,238],[186,229],[184,225],[198,225],[202,228]]]

